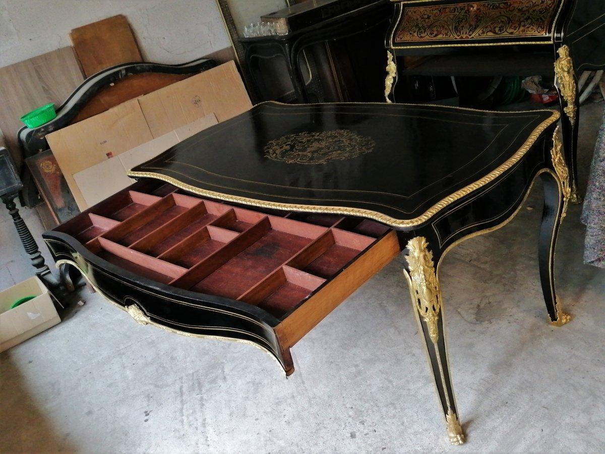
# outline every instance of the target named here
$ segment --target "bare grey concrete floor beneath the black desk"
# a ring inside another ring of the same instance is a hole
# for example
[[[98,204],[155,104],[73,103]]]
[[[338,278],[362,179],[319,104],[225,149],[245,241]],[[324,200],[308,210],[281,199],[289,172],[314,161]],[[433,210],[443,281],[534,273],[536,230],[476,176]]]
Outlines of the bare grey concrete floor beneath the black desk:
[[[603,105],[583,108],[585,186]],[[83,292],[49,331],[0,354],[0,451],[603,452],[605,271],[582,264],[580,206],[559,236],[546,321],[541,188],[440,276],[462,447],[446,440],[395,260],[293,348],[288,380],[253,347],[140,326]]]

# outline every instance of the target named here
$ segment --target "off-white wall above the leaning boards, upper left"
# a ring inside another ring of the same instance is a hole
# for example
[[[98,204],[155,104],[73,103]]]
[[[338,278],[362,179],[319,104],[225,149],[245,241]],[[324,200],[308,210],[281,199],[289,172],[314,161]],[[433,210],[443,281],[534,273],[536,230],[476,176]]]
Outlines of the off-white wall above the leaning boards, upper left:
[[[0,67],[71,45],[72,28],[117,14],[146,61],[183,63],[231,45],[215,0],[0,0]]]

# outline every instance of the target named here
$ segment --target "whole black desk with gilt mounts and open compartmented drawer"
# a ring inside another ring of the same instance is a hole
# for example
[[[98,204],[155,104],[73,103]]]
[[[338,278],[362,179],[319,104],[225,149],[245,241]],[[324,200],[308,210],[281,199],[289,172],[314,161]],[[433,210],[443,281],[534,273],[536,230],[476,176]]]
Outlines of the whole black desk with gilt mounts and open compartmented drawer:
[[[539,264],[552,274],[571,194],[559,114],[268,102],[133,168],[139,181],[44,238],[142,324],[244,341],[289,375],[290,347],[399,252],[450,440],[463,442],[439,264],[545,185]],[[226,358],[226,360],[228,360]]]

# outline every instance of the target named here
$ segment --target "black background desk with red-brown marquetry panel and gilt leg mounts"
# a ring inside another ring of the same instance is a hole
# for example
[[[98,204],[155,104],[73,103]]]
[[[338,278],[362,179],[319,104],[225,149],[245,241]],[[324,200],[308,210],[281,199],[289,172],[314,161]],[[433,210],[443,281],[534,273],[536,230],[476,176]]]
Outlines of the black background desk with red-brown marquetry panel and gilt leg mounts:
[[[435,76],[556,76],[563,142],[580,203],[576,153],[577,75],[605,69],[605,2],[594,0],[393,0],[387,48],[397,67],[387,79]],[[412,67],[402,58],[430,56]],[[395,70],[396,69],[396,70]],[[394,81],[393,81],[394,79]],[[395,90],[395,99],[397,91]]]

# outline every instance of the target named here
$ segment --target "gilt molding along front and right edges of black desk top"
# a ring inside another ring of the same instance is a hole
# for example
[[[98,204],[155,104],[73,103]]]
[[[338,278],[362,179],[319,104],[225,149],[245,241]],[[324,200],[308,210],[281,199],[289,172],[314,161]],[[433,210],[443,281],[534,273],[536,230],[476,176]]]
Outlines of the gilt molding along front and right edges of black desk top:
[[[497,177],[505,173],[505,171],[507,171],[509,168],[519,162],[523,158],[523,156],[525,156],[525,154],[531,149],[531,147],[534,145],[535,141],[540,137],[540,135],[560,117],[560,114],[557,111],[551,112],[551,117],[540,123],[540,125],[538,125],[538,127],[535,128],[535,130],[529,135],[525,143],[523,143],[523,145],[514,154],[512,154],[512,156],[508,160],[506,160],[506,162],[504,162],[498,168],[494,169],[493,171],[488,173],[486,176],[480,178],[476,182],[473,182],[465,186],[464,188],[459,189],[453,194],[450,194],[450,196],[447,196],[444,199],[440,200],[435,205],[431,206],[431,208],[429,208],[427,211],[425,211],[424,214],[421,214],[418,217],[415,217],[414,219],[396,219],[394,217],[370,209],[350,208],[344,206],[318,206],[303,205],[296,203],[268,202],[266,200],[250,199],[249,197],[243,196],[231,196],[222,192],[210,191],[208,189],[200,189],[197,186],[189,185],[188,183],[183,183],[173,177],[169,177],[164,174],[155,172],[139,172],[129,170],[126,174],[131,178],[152,178],[162,180],[166,183],[170,183],[171,185],[177,186],[177,188],[183,189],[184,191],[197,194],[198,196],[210,197],[212,199],[224,200],[226,202],[241,203],[243,205],[250,206],[260,206],[261,208],[281,209],[284,211],[289,210],[358,216],[381,222],[393,228],[408,228],[427,222],[427,220],[431,219],[433,215],[437,214],[437,212],[441,211],[443,208],[446,208],[446,206],[451,205],[451,203],[456,202],[462,197],[467,196],[471,192],[476,191],[477,189],[482,188],[486,184],[497,179]]]

